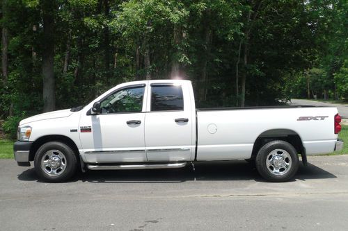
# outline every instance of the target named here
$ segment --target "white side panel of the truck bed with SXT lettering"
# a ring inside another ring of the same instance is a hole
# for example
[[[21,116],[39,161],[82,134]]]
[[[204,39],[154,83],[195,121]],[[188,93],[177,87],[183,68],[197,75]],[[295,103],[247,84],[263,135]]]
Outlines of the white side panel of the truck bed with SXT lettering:
[[[270,130],[289,130],[298,134],[307,155],[329,153],[337,141],[333,131],[335,114],[336,108],[198,111],[197,160],[248,159],[255,140]],[[318,115],[328,117],[324,120],[297,121],[301,116]],[[216,126],[214,134],[208,131],[212,124]]]

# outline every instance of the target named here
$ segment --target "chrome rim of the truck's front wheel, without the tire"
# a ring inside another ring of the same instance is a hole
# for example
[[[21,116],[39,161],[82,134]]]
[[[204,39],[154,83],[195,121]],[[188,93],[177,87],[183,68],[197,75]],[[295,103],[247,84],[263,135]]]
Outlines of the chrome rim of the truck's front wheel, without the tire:
[[[59,176],[66,169],[67,160],[59,150],[49,150],[41,158],[41,169],[48,176]]]

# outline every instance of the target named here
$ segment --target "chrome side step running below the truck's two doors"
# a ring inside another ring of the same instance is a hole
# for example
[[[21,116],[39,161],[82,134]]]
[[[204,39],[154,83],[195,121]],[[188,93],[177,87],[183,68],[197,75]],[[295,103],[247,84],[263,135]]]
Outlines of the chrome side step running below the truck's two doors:
[[[186,166],[187,162],[168,164],[123,164],[123,165],[92,165],[87,164],[89,170],[117,170],[117,169],[178,169]]]

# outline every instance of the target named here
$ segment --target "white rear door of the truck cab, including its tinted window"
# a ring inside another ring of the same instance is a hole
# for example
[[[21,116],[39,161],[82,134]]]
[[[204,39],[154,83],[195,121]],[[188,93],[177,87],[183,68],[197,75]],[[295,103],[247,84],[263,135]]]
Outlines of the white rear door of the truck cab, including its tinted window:
[[[148,161],[187,161],[194,157],[189,89],[185,84],[152,83],[145,114]],[[193,154],[193,155],[192,155]]]

